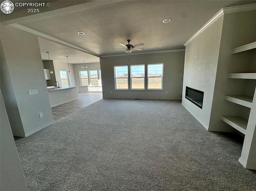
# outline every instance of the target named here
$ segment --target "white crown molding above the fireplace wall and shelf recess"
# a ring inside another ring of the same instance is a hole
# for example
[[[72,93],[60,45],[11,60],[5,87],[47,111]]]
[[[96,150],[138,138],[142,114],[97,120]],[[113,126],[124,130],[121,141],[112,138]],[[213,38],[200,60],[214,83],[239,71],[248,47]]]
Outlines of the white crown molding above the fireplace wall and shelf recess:
[[[202,28],[200,28],[198,32],[196,32],[192,37],[190,37],[190,39],[188,39],[188,41],[184,43],[184,46],[188,45],[192,40],[194,40],[200,33],[202,33],[206,28],[208,28],[208,26],[210,26],[223,14],[250,10],[256,10],[256,3],[222,8],[206,24],[204,24],[204,26],[202,26]]]

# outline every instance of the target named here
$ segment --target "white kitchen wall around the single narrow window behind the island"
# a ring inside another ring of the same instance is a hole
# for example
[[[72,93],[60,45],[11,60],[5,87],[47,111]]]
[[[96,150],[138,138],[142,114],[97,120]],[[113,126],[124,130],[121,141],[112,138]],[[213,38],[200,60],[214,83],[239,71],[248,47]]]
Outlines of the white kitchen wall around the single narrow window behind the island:
[[[60,87],[62,87],[61,79],[60,79],[60,71],[68,72],[68,63],[63,63],[63,62],[54,60],[53,65],[54,65],[56,81],[58,81],[58,83],[60,84]],[[70,71],[70,73],[68,73],[69,86],[74,87],[76,86],[76,81],[75,81],[73,64],[69,64],[69,71]]]

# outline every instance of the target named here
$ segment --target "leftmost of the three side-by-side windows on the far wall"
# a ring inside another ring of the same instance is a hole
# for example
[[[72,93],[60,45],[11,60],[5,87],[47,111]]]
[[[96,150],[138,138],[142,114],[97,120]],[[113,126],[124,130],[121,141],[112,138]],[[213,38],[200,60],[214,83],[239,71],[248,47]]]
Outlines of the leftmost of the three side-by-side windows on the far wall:
[[[116,89],[128,89],[128,66],[115,66]]]

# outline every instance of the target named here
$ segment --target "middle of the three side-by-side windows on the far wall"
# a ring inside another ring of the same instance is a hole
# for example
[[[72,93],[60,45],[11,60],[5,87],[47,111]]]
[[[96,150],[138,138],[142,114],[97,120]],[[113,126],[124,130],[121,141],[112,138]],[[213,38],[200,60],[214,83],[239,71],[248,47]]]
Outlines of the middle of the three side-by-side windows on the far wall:
[[[131,65],[131,89],[145,89],[145,65]]]

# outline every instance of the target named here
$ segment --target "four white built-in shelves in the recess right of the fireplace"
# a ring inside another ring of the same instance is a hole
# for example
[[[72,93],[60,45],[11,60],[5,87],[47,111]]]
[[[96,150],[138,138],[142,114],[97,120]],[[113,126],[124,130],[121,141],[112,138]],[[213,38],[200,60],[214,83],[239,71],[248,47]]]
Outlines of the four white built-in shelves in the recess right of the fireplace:
[[[256,48],[256,42],[252,42],[231,50],[231,54],[240,53],[243,51],[248,51]],[[256,73],[230,73],[228,78],[231,79],[252,79],[256,80]],[[256,96],[256,95],[254,95]],[[244,96],[244,95],[226,95],[224,99],[248,108],[252,108],[253,97]],[[242,134],[246,134],[246,128],[248,120],[240,116],[221,116],[222,121],[226,122]]]

